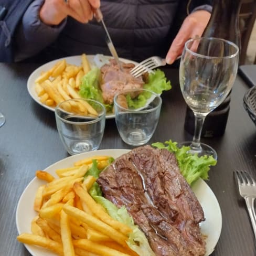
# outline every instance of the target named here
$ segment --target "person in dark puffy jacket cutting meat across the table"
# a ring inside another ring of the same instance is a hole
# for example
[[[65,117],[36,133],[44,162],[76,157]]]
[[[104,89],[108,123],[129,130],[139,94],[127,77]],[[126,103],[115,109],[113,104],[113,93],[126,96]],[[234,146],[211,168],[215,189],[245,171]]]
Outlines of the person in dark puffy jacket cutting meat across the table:
[[[10,0],[5,1],[7,4]],[[13,2],[15,9],[10,7],[12,12],[7,13],[6,22],[4,19],[1,25],[0,61],[46,62],[83,52],[110,55],[105,32],[93,19],[93,10],[100,7],[119,57],[142,61],[157,55],[166,58],[169,64],[182,53],[187,39],[201,36],[212,3],[211,0],[23,0],[20,1],[23,6],[17,8],[19,1]]]

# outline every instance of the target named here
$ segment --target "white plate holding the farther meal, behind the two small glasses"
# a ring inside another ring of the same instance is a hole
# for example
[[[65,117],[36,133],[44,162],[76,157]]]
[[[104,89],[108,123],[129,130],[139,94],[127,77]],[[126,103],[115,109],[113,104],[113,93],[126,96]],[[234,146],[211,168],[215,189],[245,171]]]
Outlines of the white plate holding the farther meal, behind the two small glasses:
[[[87,59],[90,62],[91,66],[95,66],[95,63],[93,61],[95,55],[87,55]],[[106,58],[113,58],[111,56],[104,56]],[[47,106],[45,104],[42,104],[40,102],[39,97],[37,96],[37,93],[35,91],[35,80],[40,76],[42,71],[47,71],[50,68],[52,68],[55,63],[61,59],[66,59],[67,63],[72,64],[72,65],[81,65],[81,55],[77,55],[77,56],[71,56],[71,57],[66,57],[66,58],[60,58],[57,60],[52,60],[48,63],[45,63],[44,65],[40,66],[39,68],[37,68],[35,71],[33,71],[33,73],[30,74],[28,81],[27,81],[27,90],[28,93],[30,94],[31,98],[33,98],[33,100],[35,100],[39,105],[43,106],[46,109],[49,109],[51,111],[54,111],[54,108],[52,108],[51,106]],[[123,59],[120,58],[120,60],[122,60],[125,63],[134,63],[135,65],[137,65],[137,62],[132,61],[132,60],[128,60],[128,59]],[[106,119],[111,119],[114,118],[115,115],[114,114],[107,114],[106,115]]]

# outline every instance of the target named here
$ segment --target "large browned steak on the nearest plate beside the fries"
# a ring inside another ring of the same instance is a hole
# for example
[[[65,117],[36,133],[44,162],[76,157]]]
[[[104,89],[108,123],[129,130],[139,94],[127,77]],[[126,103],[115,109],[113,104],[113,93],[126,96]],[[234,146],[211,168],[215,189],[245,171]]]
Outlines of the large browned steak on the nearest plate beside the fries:
[[[204,211],[174,154],[149,145],[115,161],[97,179],[104,197],[126,206],[156,255],[205,255]]]

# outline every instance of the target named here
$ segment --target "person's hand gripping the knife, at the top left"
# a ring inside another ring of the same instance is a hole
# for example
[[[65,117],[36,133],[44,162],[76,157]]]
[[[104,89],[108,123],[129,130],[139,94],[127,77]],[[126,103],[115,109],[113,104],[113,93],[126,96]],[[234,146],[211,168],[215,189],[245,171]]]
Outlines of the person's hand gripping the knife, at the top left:
[[[93,10],[99,7],[100,0],[45,0],[39,18],[49,26],[59,25],[67,16],[88,23],[93,18]]]

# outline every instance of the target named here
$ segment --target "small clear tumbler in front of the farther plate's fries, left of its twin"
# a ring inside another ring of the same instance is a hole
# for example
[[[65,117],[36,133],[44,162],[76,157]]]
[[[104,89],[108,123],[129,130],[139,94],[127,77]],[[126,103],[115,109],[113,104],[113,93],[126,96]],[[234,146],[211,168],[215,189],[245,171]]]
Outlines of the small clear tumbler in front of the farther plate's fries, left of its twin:
[[[88,111],[88,104],[93,111]],[[72,99],[55,109],[57,129],[70,155],[98,150],[105,128],[103,104],[89,99]]]

